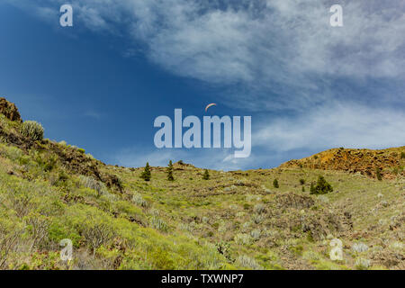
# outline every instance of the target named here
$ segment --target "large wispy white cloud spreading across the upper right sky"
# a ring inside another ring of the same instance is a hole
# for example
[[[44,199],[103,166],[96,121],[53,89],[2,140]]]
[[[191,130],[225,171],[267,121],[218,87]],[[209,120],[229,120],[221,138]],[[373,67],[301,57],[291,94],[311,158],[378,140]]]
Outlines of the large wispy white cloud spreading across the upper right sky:
[[[336,97],[329,89],[338,77],[405,73],[401,0],[340,1],[343,28],[330,27],[335,3],[327,0],[71,2],[76,26],[128,35],[176,75],[231,85],[225,96],[249,109],[306,109]],[[40,2],[41,9],[62,3]]]

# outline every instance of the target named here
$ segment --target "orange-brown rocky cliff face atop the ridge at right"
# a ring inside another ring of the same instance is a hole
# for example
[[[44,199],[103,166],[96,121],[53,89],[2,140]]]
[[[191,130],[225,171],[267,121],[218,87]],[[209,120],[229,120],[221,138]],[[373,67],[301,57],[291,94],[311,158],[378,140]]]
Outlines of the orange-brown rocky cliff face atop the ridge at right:
[[[377,170],[384,178],[404,175],[405,146],[383,150],[334,148],[300,160],[290,160],[281,167],[302,167],[321,170],[341,170],[377,176]]]

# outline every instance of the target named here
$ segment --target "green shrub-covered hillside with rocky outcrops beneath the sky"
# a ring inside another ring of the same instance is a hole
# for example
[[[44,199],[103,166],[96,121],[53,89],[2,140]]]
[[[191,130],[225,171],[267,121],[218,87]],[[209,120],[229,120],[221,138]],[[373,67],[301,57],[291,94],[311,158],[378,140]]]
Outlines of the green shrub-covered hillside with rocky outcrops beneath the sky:
[[[405,269],[404,147],[333,149],[208,180],[178,162],[175,181],[166,167],[144,181],[143,168],[105,165],[22,127],[0,99],[0,269]],[[310,193],[320,175],[333,192]],[[329,257],[333,238],[342,260]]]

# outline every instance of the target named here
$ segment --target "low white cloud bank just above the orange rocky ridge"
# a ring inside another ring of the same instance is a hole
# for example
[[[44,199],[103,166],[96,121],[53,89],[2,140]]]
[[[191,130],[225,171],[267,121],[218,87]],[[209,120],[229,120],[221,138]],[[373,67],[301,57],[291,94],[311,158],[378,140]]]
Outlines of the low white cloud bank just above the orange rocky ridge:
[[[389,148],[405,143],[405,112],[356,103],[330,103],[281,117],[262,126],[252,137],[256,147],[289,151],[298,148]]]

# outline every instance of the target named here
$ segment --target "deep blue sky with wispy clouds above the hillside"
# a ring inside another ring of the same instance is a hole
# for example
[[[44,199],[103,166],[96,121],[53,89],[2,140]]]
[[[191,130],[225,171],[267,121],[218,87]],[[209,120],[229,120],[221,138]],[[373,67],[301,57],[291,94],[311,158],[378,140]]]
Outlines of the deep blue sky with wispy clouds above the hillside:
[[[74,27],[59,26],[72,4]],[[329,25],[342,4],[344,27]],[[405,145],[405,4],[5,0],[0,95],[46,137],[108,164],[278,166],[327,148]],[[252,154],[157,149],[159,115],[252,116]]]

